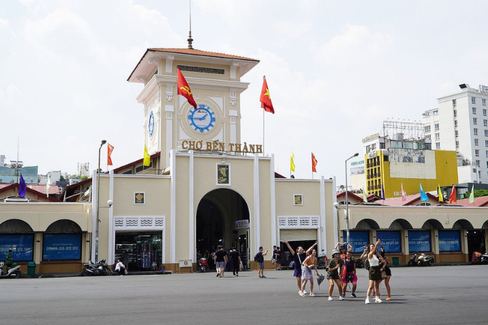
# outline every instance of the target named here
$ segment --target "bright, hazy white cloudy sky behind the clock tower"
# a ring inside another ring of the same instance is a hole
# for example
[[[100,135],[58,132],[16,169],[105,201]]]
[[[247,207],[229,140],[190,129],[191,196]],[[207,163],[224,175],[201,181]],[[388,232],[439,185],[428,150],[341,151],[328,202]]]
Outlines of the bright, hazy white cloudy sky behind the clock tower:
[[[344,184],[344,159],[383,120],[420,121],[459,84],[488,84],[485,1],[192,1],[194,47],[257,58],[241,97],[242,142],[262,143],[266,74],[276,170]],[[40,173],[96,168],[102,138],[122,166],[142,157],[140,85],[148,47],[186,47],[188,1],[0,3],[0,154]],[[105,152],[105,150],[104,150]],[[105,157],[102,156],[102,161]],[[104,167],[106,168],[106,166]]]

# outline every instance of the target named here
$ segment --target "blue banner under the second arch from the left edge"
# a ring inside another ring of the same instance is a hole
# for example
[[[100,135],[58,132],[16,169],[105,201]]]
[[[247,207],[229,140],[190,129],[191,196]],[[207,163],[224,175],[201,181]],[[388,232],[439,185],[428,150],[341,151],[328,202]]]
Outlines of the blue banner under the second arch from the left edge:
[[[80,260],[81,258],[81,234],[44,235],[43,260]]]

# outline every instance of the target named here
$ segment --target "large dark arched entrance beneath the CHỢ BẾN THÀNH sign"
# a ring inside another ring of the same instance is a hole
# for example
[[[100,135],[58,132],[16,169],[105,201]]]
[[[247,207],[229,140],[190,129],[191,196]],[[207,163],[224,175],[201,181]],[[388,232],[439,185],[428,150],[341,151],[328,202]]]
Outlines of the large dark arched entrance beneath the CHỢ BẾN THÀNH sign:
[[[247,203],[236,191],[215,189],[206,193],[197,208],[197,253],[212,253],[219,245],[226,251],[236,247],[246,265],[249,228],[245,225],[238,227],[237,221],[249,221],[249,215]],[[213,267],[213,261],[209,259],[208,262]]]

